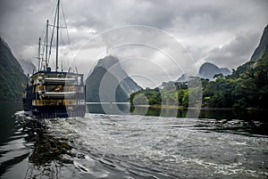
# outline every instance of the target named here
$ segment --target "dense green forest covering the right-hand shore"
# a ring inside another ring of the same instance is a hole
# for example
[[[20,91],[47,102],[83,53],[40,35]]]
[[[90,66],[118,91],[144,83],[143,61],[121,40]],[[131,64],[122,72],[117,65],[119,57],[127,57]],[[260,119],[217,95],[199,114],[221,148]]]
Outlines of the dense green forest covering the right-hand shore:
[[[188,82],[169,82],[155,89],[143,89],[130,95],[130,103],[187,108],[189,97],[200,94],[203,107],[268,109],[268,45],[264,43],[267,41],[267,27],[264,31],[266,33],[255,50],[259,53],[253,55],[255,59],[233,69],[230,75],[217,74],[214,80],[199,78],[202,89],[189,86],[198,77],[190,77]]]

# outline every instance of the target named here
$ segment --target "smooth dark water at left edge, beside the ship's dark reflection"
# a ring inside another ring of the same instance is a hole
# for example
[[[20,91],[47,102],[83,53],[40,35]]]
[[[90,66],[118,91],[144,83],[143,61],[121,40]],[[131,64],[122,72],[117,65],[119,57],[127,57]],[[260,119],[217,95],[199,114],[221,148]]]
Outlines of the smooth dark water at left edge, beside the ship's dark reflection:
[[[0,176],[10,167],[23,162],[29,157],[29,151],[22,144],[25,134],[21,132],[21,124],[13,118],[21,103],[0,102]]]

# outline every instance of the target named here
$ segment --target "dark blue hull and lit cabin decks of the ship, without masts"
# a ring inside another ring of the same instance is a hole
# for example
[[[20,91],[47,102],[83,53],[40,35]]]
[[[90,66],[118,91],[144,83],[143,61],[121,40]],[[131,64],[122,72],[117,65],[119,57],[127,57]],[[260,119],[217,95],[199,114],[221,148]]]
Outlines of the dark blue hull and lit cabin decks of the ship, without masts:
[[[29,77],[23,108],[38,118],[84,117],[85,89],[83,74],[47,68]]]

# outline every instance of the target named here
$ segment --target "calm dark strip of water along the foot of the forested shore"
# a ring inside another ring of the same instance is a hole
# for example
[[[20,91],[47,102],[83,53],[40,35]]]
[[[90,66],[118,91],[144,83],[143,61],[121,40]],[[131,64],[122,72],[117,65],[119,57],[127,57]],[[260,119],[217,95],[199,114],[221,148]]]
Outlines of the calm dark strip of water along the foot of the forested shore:
[[[145,116],[161,116],[161,117],[188,117],[188,110],[176,110],[171,108],[155,108],[147,106],[130,106],[126,103],[89,103],[87,104],[89,113],[96,114],[130,114]],[[191,109],[191,112],[195,109]],[[198,118],[214,118],[214,119],[242,119],[242,120],[262,120],[266,110],[224,110],[224,109],[202,109],[196,110],[199,113]]]

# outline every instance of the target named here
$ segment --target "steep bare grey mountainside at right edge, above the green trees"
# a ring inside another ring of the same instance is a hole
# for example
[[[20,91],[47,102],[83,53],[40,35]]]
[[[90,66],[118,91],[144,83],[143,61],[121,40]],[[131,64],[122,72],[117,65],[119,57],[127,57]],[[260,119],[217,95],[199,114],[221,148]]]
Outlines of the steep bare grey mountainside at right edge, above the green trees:
[[[264,28],[263,36],[261,37],[259,45],[256,47],[254,53],[251,56],[250,61],[258,60],[265,52],[268,46],[268,25]]]

